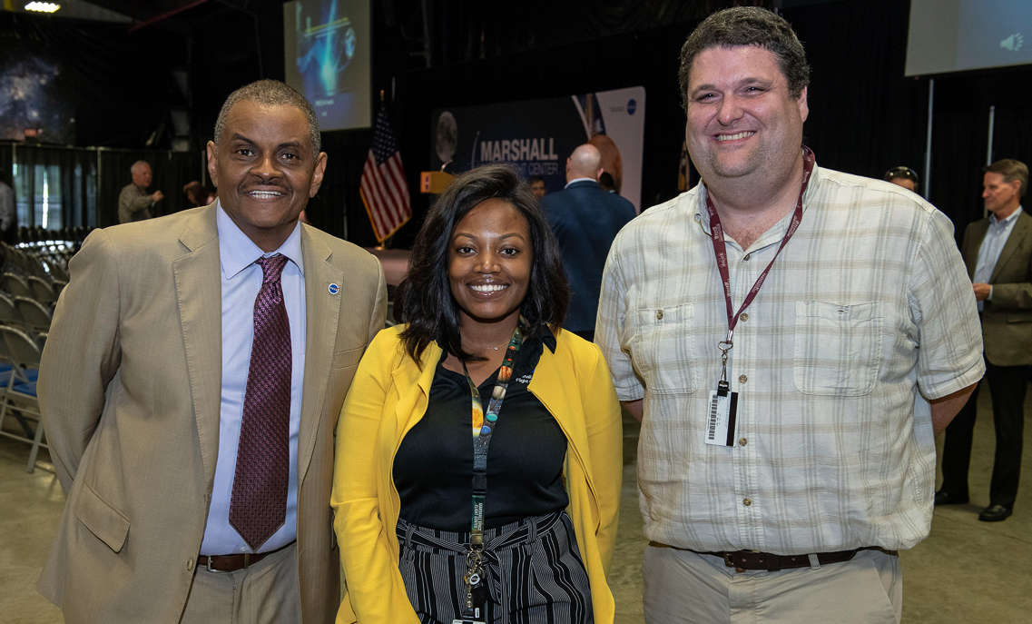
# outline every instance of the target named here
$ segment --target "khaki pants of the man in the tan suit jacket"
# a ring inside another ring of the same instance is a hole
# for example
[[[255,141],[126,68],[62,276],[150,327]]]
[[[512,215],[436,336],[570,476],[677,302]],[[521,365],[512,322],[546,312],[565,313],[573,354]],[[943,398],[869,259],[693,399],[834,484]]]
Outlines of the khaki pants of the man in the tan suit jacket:
[[[290,624],[301,621],[297,544],[235,572],[199,566],[182,624]]]

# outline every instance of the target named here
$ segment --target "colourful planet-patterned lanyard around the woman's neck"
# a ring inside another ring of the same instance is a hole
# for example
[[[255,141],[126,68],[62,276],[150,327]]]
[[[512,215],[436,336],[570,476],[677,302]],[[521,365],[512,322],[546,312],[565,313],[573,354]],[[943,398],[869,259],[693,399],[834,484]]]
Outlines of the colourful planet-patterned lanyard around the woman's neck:
[[[521,327],[526,326],[526,321],[520,316],[519,323],[513,331],[512,338],[509,339],[509,347],[506,349],[505,360],[502,368],[498,369],[498,379],[494,384],[494,392],[491,393],[491,400],[487,404],[487,411],[480,400],[480,391],[477,384],[470,378],[470,371],[462,363],[462,372],[465,380],[470,384],[470,394],[473,396],[473,520],[470,531],[470,551],[465,555],[465,604],[462,605],[462,618],[452,620],[452,624],[484,624],[487,619],[486,613],[486,587],[482,584],[486,581],[484,569],[484,501],[487,499],[487,446],[491,443],[491,434],[497,426],[498,412],[502,411],[502,401],[506,398],[506,388],[509,387],[509,379],[513,374],[513,360],[523,344],[523,332]],[[485,609],[474,605],[474,589],[480,588],[481,599],[477,602],[484,602]]]

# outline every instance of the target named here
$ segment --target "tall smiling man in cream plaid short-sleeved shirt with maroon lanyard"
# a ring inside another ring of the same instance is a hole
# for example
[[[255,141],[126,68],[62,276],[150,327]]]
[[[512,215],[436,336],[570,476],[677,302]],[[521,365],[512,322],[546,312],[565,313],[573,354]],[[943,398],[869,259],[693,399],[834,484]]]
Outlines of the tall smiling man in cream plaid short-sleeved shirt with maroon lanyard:
[[[702,183],[617,235],[595,331],[643,418],[645,621],[899,622],[935,435],[985,370],[953,225],[816,165],[774,12],[711,14],[679,77]]]

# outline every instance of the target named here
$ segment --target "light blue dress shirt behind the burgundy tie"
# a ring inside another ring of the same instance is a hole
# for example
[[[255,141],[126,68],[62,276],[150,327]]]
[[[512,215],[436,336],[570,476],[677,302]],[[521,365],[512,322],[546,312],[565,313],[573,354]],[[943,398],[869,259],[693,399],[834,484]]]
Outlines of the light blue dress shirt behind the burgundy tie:
[[[281,253],[290,261],[283,269],[283,303],[290,320],[290,480],[287,488],[287,519],[259,553],[275,551],[297,538],[297,431],[301,415],[304,375],[304,262],[301,258],[301,225],[272,253],[263,253],[222,210],[216,210],[219,258],[222,271],[222,401],[219,407],[219,459],[201,555],[253,553],[229,525],[229,501],[236,472],[236,447],[244,416],[244,393],[251,366],[254,340],[254,306],[261,290],[261,256]]]

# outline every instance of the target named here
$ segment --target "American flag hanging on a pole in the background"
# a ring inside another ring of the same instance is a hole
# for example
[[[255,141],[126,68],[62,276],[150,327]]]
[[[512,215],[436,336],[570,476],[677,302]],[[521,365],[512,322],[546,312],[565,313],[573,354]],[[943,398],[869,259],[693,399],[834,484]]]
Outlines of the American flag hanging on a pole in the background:
[[[362,167],[359,186],[365,212],[373,221],[373,229],[381,243],[397,231],[412,218],[409,187],[405,182],[401,153],[397,150],[394,133],[387,121],[387,108],[380,106],[377,124],[373,128],[373,147]]]

